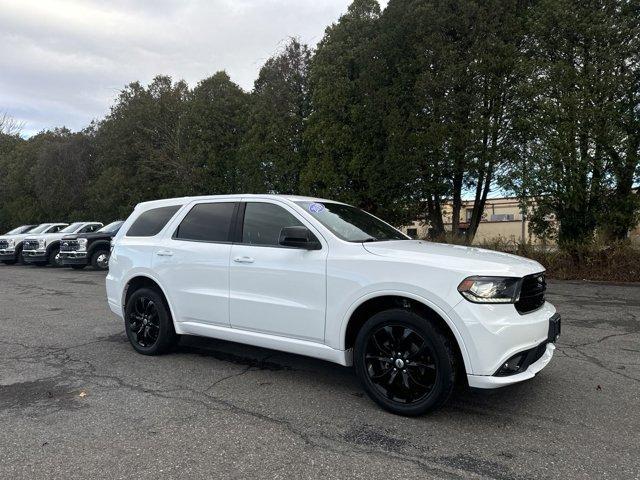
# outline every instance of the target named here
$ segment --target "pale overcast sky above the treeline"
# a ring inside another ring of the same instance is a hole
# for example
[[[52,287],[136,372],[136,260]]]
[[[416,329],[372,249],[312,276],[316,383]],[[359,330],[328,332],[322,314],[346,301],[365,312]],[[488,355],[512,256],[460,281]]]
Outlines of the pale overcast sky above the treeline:
[[[350,0],[0,0],[0,114],[23,135],[100,118],[129,82],[226,70],[250,90],[291,36],[315,46]],[[387,0],[380,2],[386,5]]]

